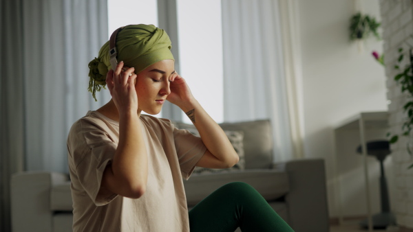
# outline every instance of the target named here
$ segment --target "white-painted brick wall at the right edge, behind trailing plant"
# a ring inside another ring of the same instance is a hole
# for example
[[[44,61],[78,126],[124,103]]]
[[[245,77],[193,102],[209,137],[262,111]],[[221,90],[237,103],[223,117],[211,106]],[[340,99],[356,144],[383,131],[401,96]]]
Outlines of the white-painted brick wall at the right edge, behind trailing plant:
[[[394,70],[399,57],[398,49],[403,47],[405,52],[404,63],[408,62],[408,50],[413,45],[413,4],[412,0],[381,0],[381,20],[383,25],[383,51],[385,56],[385,73],[387,76],[388,100],[390,100],[390,130],[393,134],[401,133],[403,119],[403,104],[407,101],[405,94],[400,91],[393,78]],[[408,42],[408,43],[406,43]],[[413,47],[412,47],[413,48]],[[407,138],[400,138],[392,145],[394,170],[394,198],[392,211],[396,214],[397,223],[401,227],[413,229],[413,170],[407,170],[413,162],[412,156],[406,151]],[[413,144],[413,139],[410,139]]]

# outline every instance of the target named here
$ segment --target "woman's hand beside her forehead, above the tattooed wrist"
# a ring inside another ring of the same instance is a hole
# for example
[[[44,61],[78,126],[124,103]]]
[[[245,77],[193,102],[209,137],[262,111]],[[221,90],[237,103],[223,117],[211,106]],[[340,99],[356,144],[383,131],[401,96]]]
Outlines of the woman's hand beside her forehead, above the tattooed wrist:
[[[194,100],[187,82],[178,73],[173,73],[169,80],[171,81],[169,86],[171,93],[167,97],[169,102],[182,108],[184,104]]]

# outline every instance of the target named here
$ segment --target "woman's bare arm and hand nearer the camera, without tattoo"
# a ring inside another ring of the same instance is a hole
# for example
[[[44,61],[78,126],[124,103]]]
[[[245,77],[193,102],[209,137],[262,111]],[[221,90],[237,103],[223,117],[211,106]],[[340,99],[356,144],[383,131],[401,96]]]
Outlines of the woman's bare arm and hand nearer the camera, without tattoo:
[[[107,74],[107,86],[119,112],[119,143],[114,159],[103,173],[100,191],[120,196],[139,198],[147,185],[147,151],[138,116],[134,69],[123,72],[120,62],[115,71]]]

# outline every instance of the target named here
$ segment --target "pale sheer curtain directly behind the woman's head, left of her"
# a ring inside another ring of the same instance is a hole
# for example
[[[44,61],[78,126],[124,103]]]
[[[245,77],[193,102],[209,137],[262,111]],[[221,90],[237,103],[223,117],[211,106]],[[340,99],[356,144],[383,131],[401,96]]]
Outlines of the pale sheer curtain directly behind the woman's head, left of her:
[[[110,100],[87,91],[87,65],[107,34],[106,0],[23,1],[26,170],[68,172],[70,126]]]

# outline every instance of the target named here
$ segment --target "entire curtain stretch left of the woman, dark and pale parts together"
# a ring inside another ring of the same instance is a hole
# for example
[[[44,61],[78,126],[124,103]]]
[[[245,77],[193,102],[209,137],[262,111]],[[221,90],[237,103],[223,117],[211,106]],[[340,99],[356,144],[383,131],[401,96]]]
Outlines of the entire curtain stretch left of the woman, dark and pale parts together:
[[[99,102],[87,64],[107,41],[106,0],[0,3],[0,231],[10,231],[10,176],[67,172],[67,132]]]

